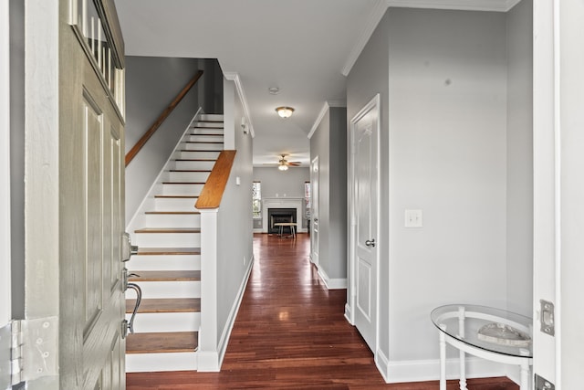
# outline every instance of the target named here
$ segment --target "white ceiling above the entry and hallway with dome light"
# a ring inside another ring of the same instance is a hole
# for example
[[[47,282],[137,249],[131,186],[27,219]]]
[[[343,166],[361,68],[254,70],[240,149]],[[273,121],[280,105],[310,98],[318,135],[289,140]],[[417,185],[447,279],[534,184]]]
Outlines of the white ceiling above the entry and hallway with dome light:
[[[379,0],[116,0],[126,55],[218,58],[236,72],[255,132],[254,164],[308,165],[308,133],[327,100],[345,100],[342,71]],[[379,20],[379,19],[378,19]],[[269,87],[280,93],[270,95]],[[296,109],[281,119],[276,107]]]

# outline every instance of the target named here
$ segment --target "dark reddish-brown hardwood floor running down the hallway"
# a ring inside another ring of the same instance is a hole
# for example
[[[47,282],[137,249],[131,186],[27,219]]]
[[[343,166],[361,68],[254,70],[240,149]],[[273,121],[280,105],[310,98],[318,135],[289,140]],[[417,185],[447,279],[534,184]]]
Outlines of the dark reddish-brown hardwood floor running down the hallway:
[[[127,374],[138,389],[437,390],[438,382],[387,385],[359,332],[343,316],[346,290],[327,290],[308,260],[309,237],[255,235],[255,265],[220,373]],[[449,381],[448,390],[458,388]],[[518,390],[506,378],[469,390]]]

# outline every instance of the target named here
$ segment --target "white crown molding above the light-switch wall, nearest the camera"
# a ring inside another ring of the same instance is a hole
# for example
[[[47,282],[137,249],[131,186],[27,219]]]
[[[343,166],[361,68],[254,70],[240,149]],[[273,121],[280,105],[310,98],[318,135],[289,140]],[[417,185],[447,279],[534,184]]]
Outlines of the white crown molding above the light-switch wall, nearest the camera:
[[[349,53],[345,66],[341,70],[343,76],[349,76],[350,69],[359,58],[361,51],[369,42],[373,31],[379,25],[381,18],[390,7],[428,8],[428,9],[456,9],[463,11],[493,11],[507,12],[521,0],[378,0],[373,6],[367,24],[361,31],[360,37]]]

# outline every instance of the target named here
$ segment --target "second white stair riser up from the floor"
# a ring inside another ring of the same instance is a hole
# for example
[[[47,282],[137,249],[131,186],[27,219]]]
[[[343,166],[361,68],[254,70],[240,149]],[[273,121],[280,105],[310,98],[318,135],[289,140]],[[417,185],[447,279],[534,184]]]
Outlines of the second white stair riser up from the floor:
[[[130,316],[126,313],[128,321]],[[134,320],[134,331],[137,333],[196,332],[200,327],[200,312],[139,312]]]

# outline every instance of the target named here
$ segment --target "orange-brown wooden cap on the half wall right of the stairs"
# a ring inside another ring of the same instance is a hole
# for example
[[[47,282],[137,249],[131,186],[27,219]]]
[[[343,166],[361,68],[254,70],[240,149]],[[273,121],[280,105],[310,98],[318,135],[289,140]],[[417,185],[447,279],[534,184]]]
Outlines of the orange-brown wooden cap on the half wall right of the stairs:
[[[201,195],[194,205],[197,209],[218,208],[225,191],[225,185],[231,174],[237,151],[222,151],[214,164],[213,171],[204,184]]]

